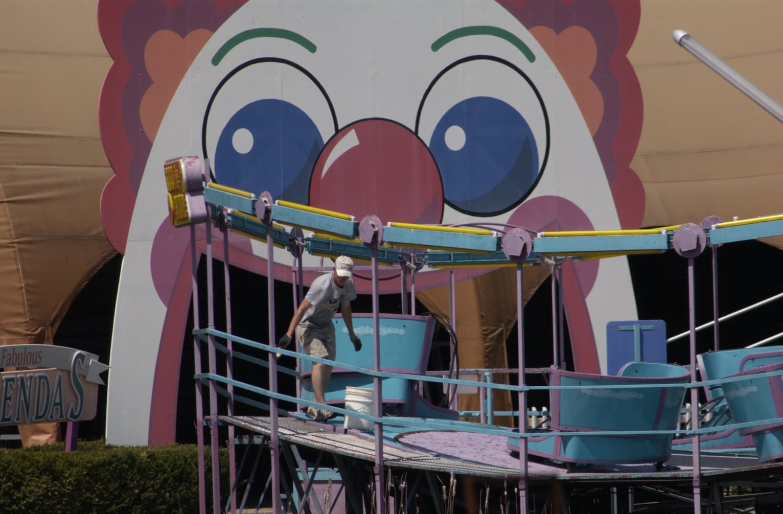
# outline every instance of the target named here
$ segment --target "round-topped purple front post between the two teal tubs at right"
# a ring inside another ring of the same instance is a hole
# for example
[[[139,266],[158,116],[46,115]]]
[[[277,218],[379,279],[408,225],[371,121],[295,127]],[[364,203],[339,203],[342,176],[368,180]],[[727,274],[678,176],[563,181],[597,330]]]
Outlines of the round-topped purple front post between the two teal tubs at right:
[[[698,389],[696,382],[696,307],[693,259],[704,252],[707,237],[702,227],[685,223],[674,231],[672,245],[677,254],[687,258],[688,325],[691,328],[691,429],[698,430]],[[693,512],[702,512],[701,438],[693,434]]]

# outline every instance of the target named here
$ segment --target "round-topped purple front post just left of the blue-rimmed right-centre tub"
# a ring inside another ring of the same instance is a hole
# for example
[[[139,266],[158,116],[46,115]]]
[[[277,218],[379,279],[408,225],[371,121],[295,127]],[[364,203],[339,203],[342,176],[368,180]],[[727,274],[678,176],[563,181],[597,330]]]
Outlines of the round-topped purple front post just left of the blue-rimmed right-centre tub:
[[[511,262],[517,263],[517,338],[519,367],[519,508],[521,514],[528,513],[528,392],[525,390],[525,283],[522,278],[522,263],[530,255],[532,241],[525,230],[509,230],[503,235],[503,253]]]

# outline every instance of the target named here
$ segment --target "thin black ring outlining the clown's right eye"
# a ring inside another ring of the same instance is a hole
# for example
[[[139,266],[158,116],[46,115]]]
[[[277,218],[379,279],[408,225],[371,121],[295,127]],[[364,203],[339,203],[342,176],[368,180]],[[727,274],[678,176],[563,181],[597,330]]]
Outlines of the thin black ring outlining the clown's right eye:
[[[432,89],[438,83],[438,80],[440,80],[440,78],[442,78],[443,75],[445,75],[449,71],[453,70],[453,68],[455,68],[457,66],[460,66],[460,64],[468,63],[468,62],[471,62],[471,61],[474,61],[474,60],[489,60],[489,61],[494,61],[496,63],[503,64],[504,66],[510,67],[517,74],[519,74],[519,76],[521,76],[521,78],[525,79],[525,81],[530,86],[530,89],[532,90],[532,92],[535,93],[536,100],[538,100],[539,106],[541,107],[541,113],[543,114],[543,121],[544,121],[544,135],[547,138],[546,144],[544,145],[543,158],[541,159],[540,170],[539,170],[538,176],[536,177],[536,182],[534,182],[532,184],[532,186],[530,186],[530,188],[527,191],[527,193],[522,195],[519,198],[519,200],[515,201],[512,205],[509,205],[506,208],[502,208],[502,209],[500,209],[498,211],[477,214],[475,212],[468,211],[468,210],[466,210],[464,208],[460,208],[460,207],[454,205],[452,202],[448,201],[445,196],[443,197],[443,201],[446,203],[446,205],[448,205],[450,208],[453,208],[456,212],[460,212],[462,214],[467,214],[467,215],[471,215],[471,216],[478,216],[478,217],[482,217],[482,218],[489,218],[489,217],[492,217],[492,216],[503,214],[504,212],[509,212],[512,209],[517,208],[519,205],[521,205],[521,203],[523,201],[525,201],[530,196],[530,194],[532,194],[532,192],[534,190],[536,190],[536,187],[538,186],[538,184],[539,184],[539,182],[541,180],[541,177],[543,176],[543,173],[544,173],[544,171],[547,168],[547,162],[549,161],[549,150],[550,150],[550,144],[551,144],[551,131],[550,131],[549,114],[547,113],[547,107],[543,103],[543,98],[541,96],[541,93],[539,92],[538,88],[536,88],[536,85],[533,84],[532,80],[530,80],[528,75],[525,74],[524,71],[521,71],[521,69],[518,66],[514,65],[514,63],[511,63],[511,62],[509,62],[509,61],[507,61],[505,59],[500,59],[500,57],[485,56],[485,55],[475,55],[475,56],[463,57],[462,59],[456,60],[453,63],[449,64],[449,66],[443,68],[442,71],[440,71],[438,74],[436,74],[435,78],[433,78],[432,81],[430,82],[430,85],[427,86],[427,89],[424,91],[424,95],[421,96],[421,100],[419,102],[419,108],[418,108],[417,113],[416,113],[416,124],[414,125],[414,132],[419,137],[419,139],[424,141],[424,139],[421,138],[420,133],[419,133],[419,122],[420,122],[420,119],[421,119],[421,112],[422,112],[422,110],[424,110],[424,103],[427,102],[427,98],[428,98],[430,92],[432,91]],[[501,100],[501,99],[498,99],[498,100]],[[428,145],[428,147],[429,147],[429,145]],[[437,161],[436,161],[436,164],[437,164]],[[439,167],[438,167],[438,172],[440,172],[440,168]],[[443,181],[443,177],[441,176],[441,182],[442,181]]]

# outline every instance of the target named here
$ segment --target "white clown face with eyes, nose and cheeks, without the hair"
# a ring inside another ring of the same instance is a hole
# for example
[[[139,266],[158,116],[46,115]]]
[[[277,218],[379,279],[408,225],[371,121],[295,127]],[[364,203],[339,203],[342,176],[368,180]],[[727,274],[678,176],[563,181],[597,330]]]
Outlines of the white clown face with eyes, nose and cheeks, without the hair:
[[[217,183],[356,219],[621,228],[572,90],[496,2],[251,1],[207,37],[136,179],[111,349],[110,443],[173,433],[191,266],[189,230],[168,222],[162,165],[171,157],[199,155]],[[203,250],[202,228],[197,238]],[[235,235],[229,243],[234,264],[265,272],[265,244]],[[275,260],[276,278],[290,280],[290,255],[276,250]],[[321,261],[305,255],[304,264]],[[482,270],[459,277],[471,273]],[[445,280],[424,271],[417,287]],[[626,261],[590,262],[571,280],[572,329],[586,323],[605,368],[606,322],[636,317]]]

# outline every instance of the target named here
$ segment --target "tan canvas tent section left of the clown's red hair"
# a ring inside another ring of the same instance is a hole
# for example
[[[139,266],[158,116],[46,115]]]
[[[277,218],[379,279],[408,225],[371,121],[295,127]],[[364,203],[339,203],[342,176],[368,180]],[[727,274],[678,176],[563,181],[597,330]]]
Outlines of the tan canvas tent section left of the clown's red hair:
[[[0,345],[52,344],[78,292],[114,255],[98,131],[110,58],[95,0],[0,5]],[[20,427],[25,446],[56,424]]]

